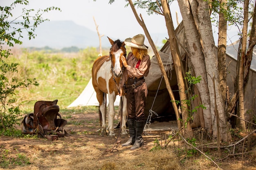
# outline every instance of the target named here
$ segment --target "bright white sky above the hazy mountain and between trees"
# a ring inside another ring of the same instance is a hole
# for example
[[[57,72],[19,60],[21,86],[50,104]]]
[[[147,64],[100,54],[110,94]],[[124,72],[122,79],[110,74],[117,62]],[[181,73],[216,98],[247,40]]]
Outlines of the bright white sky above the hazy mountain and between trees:
[[[13,0],[1,0],[0,6],[9,5],[12,1]],[[29,6],[23,7],[26,9],[45,9],[52,6],[59,7],[61,11],[49,11],[43,15],[43,18],[48,18],[51,21],[72,20],[76,24],[97,32],[94,23],[95,19],[99,33],[110,38],[132,38],[139,33],[145,35],[131,7],[125,7],[128,2],[125,0],[115,0],[112,4],[108,2],[109,0],[96,0],[96,2],[93,0],[29,0]],[[19,15],[21,9],[22,7],[17,7],[16,10],[13,11],[13,15]],[[176,28],[176,12],[178,22],[182,21],[177,1],[172,2],[170,9],[174,28]],[[136,10],[138,15],[142,15],[149,33],[166,33],[166,36],[168,35],[164,16],[157,14],[148,15],[146,9],[138,9],[137,7]],[[218,29],[214,26],[213,30],[218,32]],[[216,42],[218,34],[214,34]]]

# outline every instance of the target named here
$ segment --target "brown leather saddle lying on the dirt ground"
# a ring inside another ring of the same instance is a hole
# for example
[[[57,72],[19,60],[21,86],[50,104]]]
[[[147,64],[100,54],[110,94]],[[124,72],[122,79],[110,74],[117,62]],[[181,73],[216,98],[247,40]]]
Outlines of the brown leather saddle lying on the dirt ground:
[[[57,102],[58,100],[36,102],[34,113],[26,115],[21,122],[22,132],[26,134],[39,132],[43,137],[52,140],[58,139],[58,136],[68,136],[64,129],[67,121],[58,113],[60,108]]]

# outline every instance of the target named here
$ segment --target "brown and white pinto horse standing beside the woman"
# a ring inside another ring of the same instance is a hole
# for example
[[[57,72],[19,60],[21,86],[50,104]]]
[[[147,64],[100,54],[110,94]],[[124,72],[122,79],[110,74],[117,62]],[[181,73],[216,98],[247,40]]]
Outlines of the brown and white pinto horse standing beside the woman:
[[[101,136],[106,136],[106,94],[108,94],[108,136],[115,136],[114,102],[119,92],[121,76],[123,74],[123,64],[121,56],[126,56],[124,42],[116,40],[115,42],[108,38],[110,44],[110,55],[98,57],[92,65],[92,85],[99,101],[99,114],[102,119]],[[105,98],[105,99],[104,99]],[[126,132],[127,104],[126,97],[123,99],[123,117],[121,122],[121,135],[128,136]]]

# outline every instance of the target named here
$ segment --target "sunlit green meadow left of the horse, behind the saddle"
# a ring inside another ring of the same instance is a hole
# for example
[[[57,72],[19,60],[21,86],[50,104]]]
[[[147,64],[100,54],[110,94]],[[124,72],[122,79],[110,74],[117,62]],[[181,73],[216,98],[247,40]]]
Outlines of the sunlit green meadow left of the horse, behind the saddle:
[[[8,60],[18,61],[18,73],[10,76],[18,76],[21,80],[36,78],[39,83],[38,87],[29,86],[17,91],[16,100],[17,104],[21,104],[22,113],[33,112],[36,101],[55,99],[58,99],[58,105],[64,111],[88,84],[92,64],[97,57],[96,48],[84,49],[78,53],[29,52],[26,49],[16,49]]]

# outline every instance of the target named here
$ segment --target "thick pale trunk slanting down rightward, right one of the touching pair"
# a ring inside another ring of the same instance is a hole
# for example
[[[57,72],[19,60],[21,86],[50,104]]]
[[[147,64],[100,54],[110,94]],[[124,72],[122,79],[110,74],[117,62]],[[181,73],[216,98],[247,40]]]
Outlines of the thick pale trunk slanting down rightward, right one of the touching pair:
[[[202,50],[204,51],[204,60],[208,77],[208,89],[211,101],[213,137],[217,137],[218,127],[216,126],[216,116],[214,114],[214,108],[217,102],[217,109],[220,118],[220,138],[222,141],[228,141],[229,129],[227,126],[227,117],[225,115],[225,107],[220,90],[218,59],[211,28],[210,12],[207,10],[209,9],[209,5],[208,2],[204,0],[189,0],[189,2],[191,3],[191,10],[195,19],[195,23],[198,25],[198,30],[202,39]],[[214,77],[214,81],[211,80],[211,77]],[[215,82],[215,88],[213,86],[213,82]],[[214,91],[216,91],[216,99]]]

